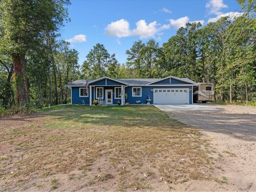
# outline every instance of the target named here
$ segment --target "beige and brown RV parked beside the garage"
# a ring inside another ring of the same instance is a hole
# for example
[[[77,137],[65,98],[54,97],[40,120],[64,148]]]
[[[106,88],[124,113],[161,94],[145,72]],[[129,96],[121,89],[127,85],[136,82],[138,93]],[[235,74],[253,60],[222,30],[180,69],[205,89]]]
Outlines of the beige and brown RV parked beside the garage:
[[[214,101],[214,84],[198,83],[198,86],[193,89],[193,102],[206,103],[208,101]]]

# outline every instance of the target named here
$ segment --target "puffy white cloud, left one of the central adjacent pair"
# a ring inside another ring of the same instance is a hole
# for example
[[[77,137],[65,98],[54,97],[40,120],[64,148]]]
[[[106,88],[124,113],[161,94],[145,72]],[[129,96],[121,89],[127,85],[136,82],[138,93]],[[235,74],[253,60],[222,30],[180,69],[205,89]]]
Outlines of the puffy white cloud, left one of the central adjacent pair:
[[[118,38],[127,37],[131,33],[129,27],[129,22],[124,19],[111,22],[111,24],[108,24],[105,28],[106,35],[111,37],[117,36]]]

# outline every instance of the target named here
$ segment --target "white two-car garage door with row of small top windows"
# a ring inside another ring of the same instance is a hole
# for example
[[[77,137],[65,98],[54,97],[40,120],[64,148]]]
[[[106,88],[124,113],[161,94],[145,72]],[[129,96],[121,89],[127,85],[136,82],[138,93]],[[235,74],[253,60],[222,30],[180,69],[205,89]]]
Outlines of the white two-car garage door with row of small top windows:
[[[188,88],[154,89],[154,104],[188,104]]]

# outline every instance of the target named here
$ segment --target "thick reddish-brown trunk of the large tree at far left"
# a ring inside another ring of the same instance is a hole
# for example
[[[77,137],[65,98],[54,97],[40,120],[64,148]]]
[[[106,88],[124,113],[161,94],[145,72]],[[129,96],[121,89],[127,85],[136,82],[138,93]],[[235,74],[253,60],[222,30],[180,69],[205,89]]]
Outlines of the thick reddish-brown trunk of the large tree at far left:
[[[29,102],[25,54],[14,54],[12,61],[14,64],[14,79],[16,80],[17,88],[16,98],[18,105],[24,106]]]

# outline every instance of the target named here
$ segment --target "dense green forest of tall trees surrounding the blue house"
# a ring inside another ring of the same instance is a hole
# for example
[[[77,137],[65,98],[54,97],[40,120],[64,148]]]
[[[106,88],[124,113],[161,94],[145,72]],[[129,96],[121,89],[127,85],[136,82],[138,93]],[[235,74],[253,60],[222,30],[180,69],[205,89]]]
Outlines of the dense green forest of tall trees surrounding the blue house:
[[[59,33],[69,21],[69,0],[0,0],[0,114],[70,103],[66,84],[102,76],[213,82],[216,101],[256,105],[256,1],[237,1],[242,16],[187,23],[162,47],[138,40],[123,64],[97,43],[80,66]]]

